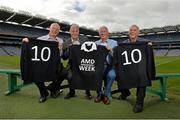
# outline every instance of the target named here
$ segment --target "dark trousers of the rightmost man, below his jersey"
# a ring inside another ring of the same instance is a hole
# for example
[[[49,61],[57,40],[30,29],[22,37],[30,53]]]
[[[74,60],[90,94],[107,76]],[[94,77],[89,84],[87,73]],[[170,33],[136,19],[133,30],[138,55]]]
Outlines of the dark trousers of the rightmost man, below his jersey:
[[[122,89],[120,91],[121,91],[121,94],[124,95],[124,96],[129,96],[130,95],[129,89]],[[136,103],[143,104],[145,96],[146,96],[146,87],[137,87],[137,90],[136,90]]]

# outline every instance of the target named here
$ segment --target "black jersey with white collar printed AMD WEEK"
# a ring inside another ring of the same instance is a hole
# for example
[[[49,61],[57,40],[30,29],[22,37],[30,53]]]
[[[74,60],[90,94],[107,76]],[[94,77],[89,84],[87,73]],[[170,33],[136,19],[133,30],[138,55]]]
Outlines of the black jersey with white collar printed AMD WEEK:
[[[96,46],[94,42],[92,46],[86,46],[86,43],[70,47],[71,88],[97,90],[102,85],[104,62],[108,51],[104,46]]]

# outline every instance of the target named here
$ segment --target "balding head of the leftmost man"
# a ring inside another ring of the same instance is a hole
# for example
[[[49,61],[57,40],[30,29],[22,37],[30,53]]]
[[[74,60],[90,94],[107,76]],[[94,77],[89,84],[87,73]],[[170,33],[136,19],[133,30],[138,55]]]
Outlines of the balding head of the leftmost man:
[[[52,23],[49,27],[49,36],[52,38],[56,38],[59,34],[60,25],[58,23]]]

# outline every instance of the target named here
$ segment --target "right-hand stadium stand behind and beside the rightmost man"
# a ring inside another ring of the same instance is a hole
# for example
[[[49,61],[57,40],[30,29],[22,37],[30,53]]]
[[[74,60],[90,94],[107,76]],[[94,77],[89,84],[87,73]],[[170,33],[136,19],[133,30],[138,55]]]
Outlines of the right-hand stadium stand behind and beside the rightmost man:
[[[152,41],[156,56],[180,56],[180,25],[141,29],[140,36]],[[123,41],[128,31],[111,33],[111,37]]]

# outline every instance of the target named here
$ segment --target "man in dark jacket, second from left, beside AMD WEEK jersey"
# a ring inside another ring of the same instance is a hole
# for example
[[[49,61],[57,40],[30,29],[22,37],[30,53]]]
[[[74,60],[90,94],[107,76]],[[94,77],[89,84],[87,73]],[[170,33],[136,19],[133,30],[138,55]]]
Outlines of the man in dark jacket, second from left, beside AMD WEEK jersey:
[[[87,38],[82,39],[79,37],[79,26],[77,24],[72,24],[69,32],[71,34],[71,38],[68,39],[67,41],[65,41],[63,44],[63,56],[62,56],[62,58],[64,60],[67,60],[69,58],[69,46],[71,46],[71,45],[82,45],[85,41],[87,41]],[[68,64],[69,64],[68,66],[70,66],[70,63],[68,63]],[[70,99],[70,98],[75,96],[75,90],[71,88],[72,73],[71,73],[70,67],[68,69],[69,69],[68,73],[65,73],[65,74],[67,74],[65,76],[67,76],[66,78],[68,79],[70,87],[69,87],[69,93],[64,97],[64,99]],[[86,93],[87,99],[92,98],[89,90],[86,90],[85,93]]]

